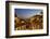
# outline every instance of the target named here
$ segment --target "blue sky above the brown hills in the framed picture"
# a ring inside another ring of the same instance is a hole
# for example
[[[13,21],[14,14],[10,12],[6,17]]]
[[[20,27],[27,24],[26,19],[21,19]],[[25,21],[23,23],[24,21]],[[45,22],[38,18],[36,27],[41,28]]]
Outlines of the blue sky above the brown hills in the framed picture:
[[[20,18],[29,18],[41,11],[39,9],[15,9],[15,13]]]

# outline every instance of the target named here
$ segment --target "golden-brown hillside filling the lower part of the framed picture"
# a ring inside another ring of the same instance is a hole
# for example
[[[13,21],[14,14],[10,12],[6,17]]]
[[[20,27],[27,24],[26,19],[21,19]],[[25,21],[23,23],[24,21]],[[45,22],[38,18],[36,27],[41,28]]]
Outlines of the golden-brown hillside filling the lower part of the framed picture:
[[[27,20],[15,17],[15,29],[16,30],[33,30],[43,28],[42,15],[35,15]]]

